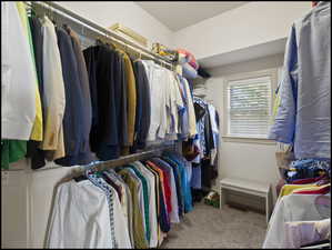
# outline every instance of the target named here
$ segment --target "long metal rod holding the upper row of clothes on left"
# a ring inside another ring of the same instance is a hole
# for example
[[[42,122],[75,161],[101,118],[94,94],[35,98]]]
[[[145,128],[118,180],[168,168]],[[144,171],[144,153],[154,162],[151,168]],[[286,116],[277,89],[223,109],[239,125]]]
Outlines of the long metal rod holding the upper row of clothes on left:
[[[88,28],[92,32],[98,31],[99,33],[104,36],[107,39],[115,40],[115,42],[119,42],[124,46],[129,46],[135,52],[138,52],[138,53],[142,52],[143,54],[148,56],[149,58],[152,58],[161,63],[168,64],[173,68],[173,62],[171,60],[162,58],[161,56],[159,56],[159,54],[157,54],[157,53],[154,53],[134,42],[131,42],[125,38],[122,38],[121,36],[117,34],[115,32],[94,23],[94,22],[59,6],[58,3],[54,3],[52,1],[29,1],[26,3],[29,7],[31,7],[32,9],[36,9],[36,7],[40,7],[43,9],[44,12],[47,12],[47,9],[49,9],[52,11],[52,13],[57,13],[57,14],[61,16],[62,18],[67,18],[71,22],[74,22],[76,24],[80,26],[81,28]],[[53,11],[53,10],[56,10],[56,11]]]

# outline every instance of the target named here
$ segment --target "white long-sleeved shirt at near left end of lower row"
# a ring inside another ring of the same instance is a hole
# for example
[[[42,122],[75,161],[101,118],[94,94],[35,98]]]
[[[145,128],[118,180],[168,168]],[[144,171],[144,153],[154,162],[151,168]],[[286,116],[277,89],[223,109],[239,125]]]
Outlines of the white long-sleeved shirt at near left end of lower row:
[[[113,248],[110,211],[104,192],[89,180],[71,180],[60,184],[46,247]]]

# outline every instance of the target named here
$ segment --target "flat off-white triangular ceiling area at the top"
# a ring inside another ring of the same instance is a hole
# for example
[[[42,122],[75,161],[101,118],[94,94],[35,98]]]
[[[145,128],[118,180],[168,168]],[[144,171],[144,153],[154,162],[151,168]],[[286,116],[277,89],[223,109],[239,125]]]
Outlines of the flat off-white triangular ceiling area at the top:
[[[134,1],[172,31],[198,23],[224,11],[238,8],[244,1]]]

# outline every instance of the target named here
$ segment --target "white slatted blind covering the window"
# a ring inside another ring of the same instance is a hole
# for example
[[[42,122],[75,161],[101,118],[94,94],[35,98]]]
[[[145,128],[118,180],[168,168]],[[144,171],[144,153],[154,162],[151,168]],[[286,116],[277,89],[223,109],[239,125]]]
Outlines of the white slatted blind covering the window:
[[[228,136],[268,138],[271,77],[229,81]]]

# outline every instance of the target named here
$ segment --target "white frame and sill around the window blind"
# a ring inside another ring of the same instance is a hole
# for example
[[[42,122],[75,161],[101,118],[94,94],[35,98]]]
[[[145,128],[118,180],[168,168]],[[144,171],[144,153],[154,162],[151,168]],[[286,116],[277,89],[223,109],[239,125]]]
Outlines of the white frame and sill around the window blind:
[[[251,72],[245,72],[245,73],[237,73],[237,74],[231,74],[224,78],[223,82],[223,129],[222,129],[222,138],[225,141],[237,141],[237,142],[254,142],[254,143],[268,143],[272,144],[275,143],[273,140],[269,140],[268,138],[261,138],[261,137],[255,137],[255,136],[235,136],[235,134],[230,134],[229,133],[229,92],[228,88],[233,81],[243,81],[243,80],[249,80],[252,78],[263,78],[263,77],[269,77],[271,79],[271,100],[269,103],[270,107],[270,116],[273,113],[273,104],[274,104],[274,99],[275,99],[275,89],[278,86],[278,76],[279,76],[279,70],[278,68],[272,68],[272,69],[265,69],[265,70],[260,70],[260,71],[251,71]]]

